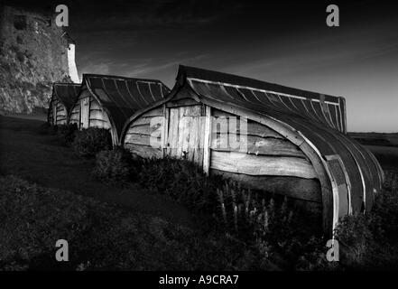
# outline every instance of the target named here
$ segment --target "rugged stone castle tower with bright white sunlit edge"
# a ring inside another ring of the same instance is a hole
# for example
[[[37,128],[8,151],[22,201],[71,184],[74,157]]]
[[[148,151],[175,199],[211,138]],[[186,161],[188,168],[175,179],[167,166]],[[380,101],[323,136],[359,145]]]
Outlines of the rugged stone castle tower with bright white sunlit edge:
[[[0,113],[42,111],[53,82],[79,82],[75,42],[54,12],[0,5]]]

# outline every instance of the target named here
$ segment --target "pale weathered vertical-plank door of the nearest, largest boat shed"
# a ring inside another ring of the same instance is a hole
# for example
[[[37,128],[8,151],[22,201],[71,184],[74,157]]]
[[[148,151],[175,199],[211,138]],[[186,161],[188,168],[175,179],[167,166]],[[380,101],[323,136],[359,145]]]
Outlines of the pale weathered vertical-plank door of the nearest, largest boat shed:
[[[203,165],[205,117],[202,105],[171,107],[166,154]]]

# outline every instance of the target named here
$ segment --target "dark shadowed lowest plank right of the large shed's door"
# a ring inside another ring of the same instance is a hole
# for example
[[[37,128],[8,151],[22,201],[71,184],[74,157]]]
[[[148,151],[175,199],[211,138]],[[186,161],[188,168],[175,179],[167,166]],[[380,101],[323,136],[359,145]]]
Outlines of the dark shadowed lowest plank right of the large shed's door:
[[[281,194],[289,198],[321,203],[319,180],[291,176],[253,176],[241,173],[211,170],[211,173],[241,182],[246,188]]]

